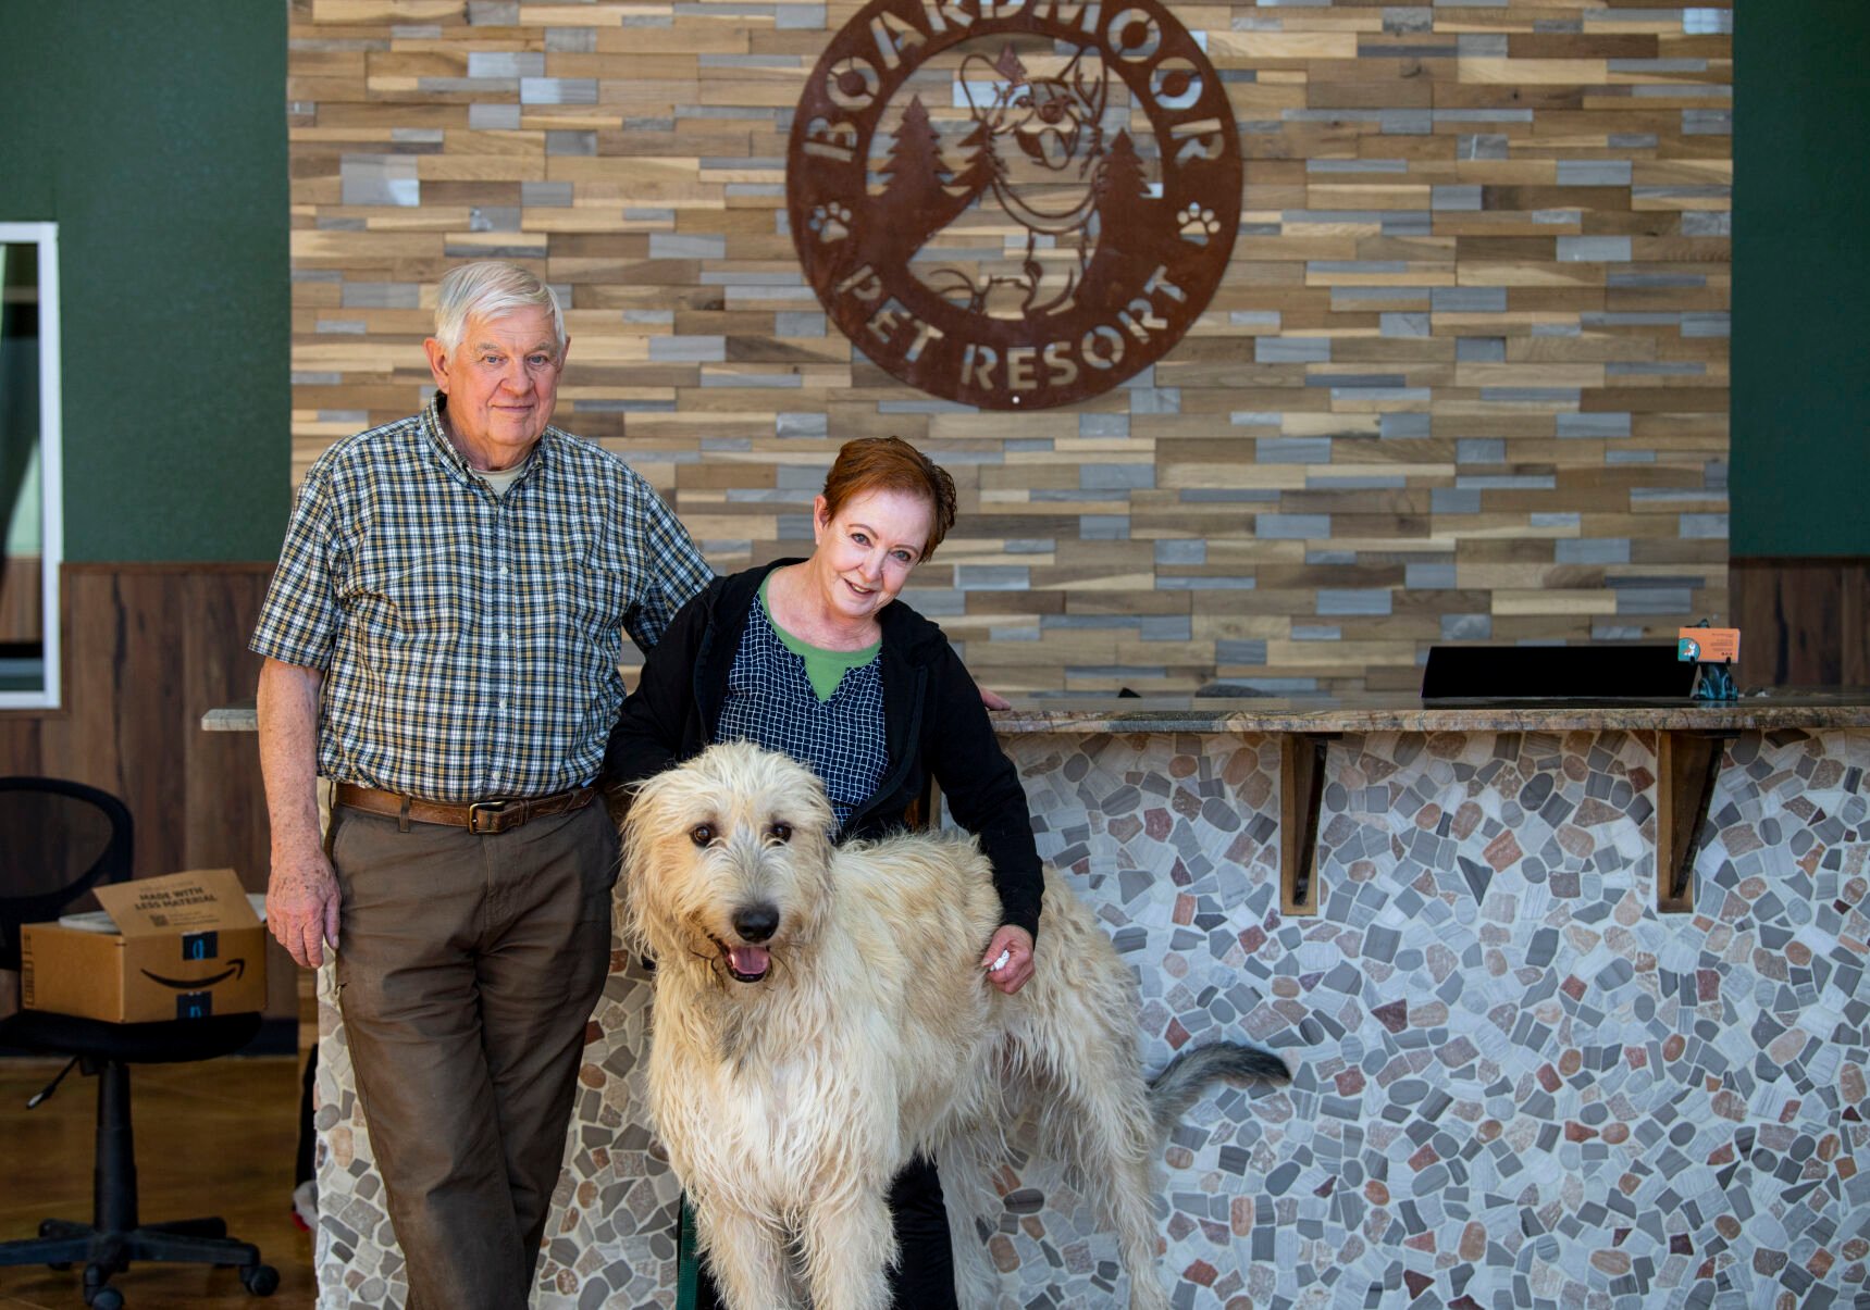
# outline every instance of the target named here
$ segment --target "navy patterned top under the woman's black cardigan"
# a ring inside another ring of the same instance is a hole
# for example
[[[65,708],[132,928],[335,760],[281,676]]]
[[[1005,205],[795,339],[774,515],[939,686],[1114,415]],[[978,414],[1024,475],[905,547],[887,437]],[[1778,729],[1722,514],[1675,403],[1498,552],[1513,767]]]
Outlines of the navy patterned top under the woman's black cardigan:
[[[714,740],[754,742],[810,768],[825,781],[842,830],[890,762],[881,660],[845,669],[832,697],[819,701],[804,658],[785,648],[767,607],[755,602],[727,673]]]

